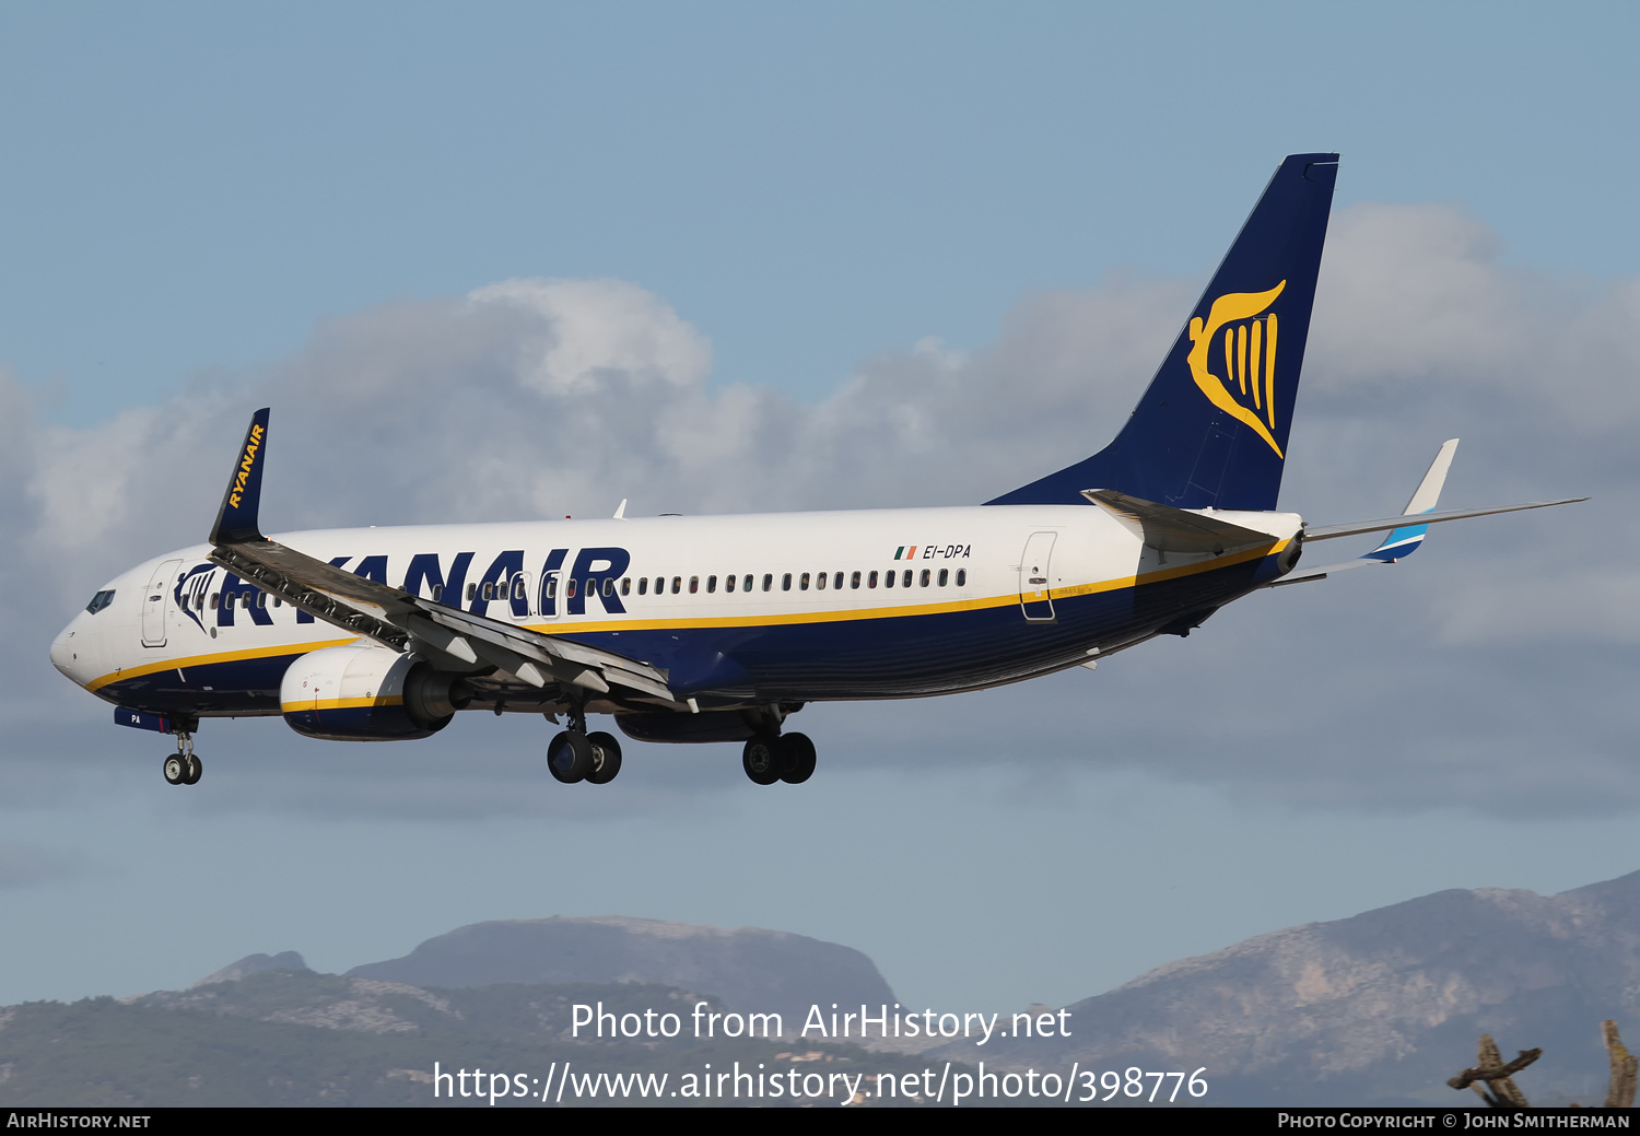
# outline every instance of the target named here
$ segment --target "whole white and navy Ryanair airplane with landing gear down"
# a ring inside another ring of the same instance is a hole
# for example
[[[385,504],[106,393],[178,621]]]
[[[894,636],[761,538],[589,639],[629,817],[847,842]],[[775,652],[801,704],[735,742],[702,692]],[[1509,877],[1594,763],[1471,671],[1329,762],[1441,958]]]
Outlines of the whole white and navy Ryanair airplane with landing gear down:
[[[1351,525],[1278,511],[1337,154],[1276,169],[1117,438],[982,505],[741,516],[261,531],[269,410],[205,544],[103,585],[51,646],[115,721],[174,734],[198,782],[205,718],[402,741],[458,711],[540,713],[561,782],[608,784],[630,739],[740,743],[759,785],[802,784],[810,702],[920,698],[1187,636],[1266,587],[1394,564],[1433,523],[1456,439],[1407,508]],[[1305,548],[1387,533],[1342,564]],[[563,718],[563,721],[559,721]]]

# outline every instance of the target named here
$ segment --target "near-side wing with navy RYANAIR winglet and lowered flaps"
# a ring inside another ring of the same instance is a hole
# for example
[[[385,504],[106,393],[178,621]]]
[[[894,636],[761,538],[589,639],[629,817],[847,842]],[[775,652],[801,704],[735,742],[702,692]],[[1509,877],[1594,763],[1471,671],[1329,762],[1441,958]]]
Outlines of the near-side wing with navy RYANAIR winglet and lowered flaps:
[[[251,418],[212,528],[212,564],[318,620],[454,670],[490,666],[536,688],[559,684],[610,693],[620,687],[686,708],[672,697],[666,670],[648,662],[433,603],[267,539],[257,523],[266,444],[264,408]]]

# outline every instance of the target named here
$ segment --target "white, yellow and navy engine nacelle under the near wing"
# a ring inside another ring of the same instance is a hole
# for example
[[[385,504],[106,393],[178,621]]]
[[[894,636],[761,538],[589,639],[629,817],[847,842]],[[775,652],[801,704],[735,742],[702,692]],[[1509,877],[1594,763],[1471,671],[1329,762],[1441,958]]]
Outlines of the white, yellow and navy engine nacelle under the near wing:
[[[326,741],[428,738],[469,702],[461,675],[372,644],[310,651],[279,684],[279,707],[290,728]]]

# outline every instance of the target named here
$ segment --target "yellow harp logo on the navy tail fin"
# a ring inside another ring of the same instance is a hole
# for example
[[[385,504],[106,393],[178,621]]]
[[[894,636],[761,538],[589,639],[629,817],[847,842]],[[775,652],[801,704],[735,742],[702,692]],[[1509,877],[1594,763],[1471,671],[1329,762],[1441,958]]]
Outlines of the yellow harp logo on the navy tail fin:
[[[1264,315],[1264,310],[1276,302],[1284,287],[1286,280],[1269,292],[1228,292],[1214,300],[1214,307],[1207,311],[1207,326],[1202,326],[1200,316],[1191,318],[1191,354],[1186,356],[1191,377],[1207,400],[1237,421],[1251,426],[1253,433],[1276,451],[1276,457],[1282,456],[1281,446],[1269,431],[1276,428],[1278,328],[1276,313]],[[1263,320],[1258,318],[1261,315]],[[1223,351],[1223,379],[1209,370],[1215,344]]]

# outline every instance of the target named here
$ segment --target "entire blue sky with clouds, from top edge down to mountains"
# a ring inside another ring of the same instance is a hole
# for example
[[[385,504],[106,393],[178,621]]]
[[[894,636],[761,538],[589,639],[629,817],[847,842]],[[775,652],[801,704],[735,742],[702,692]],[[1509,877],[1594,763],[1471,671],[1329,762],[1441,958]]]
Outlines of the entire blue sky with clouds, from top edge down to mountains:
[[[1637,23],[5,8],[0,1003],[554,913],[800,931],[915,1002],[1064,1003],[1442,887],[1633,870]],[[105,579],[200,539],[221,429],[262,397],[289,528],[982,500],[1102,444],[1276,162],[1319,149],[1343,164],[1284,505],[1383,515],[1450,436],[1455,505],[1594,505],[1442,531],[1096,675],[810,708],[822,772],[776,795],[728,747],[635,746],[592,803],[546,777],[541,723],[487,718],[421,749],[213,723],[185,793],[46,662]],[[663,351],[653,403],[548,407],[595,438],[508,421],[528,375],[474,361],[517,341],[456,313],[535,277],[620,282],[549,315],[674,313],[708,372]],[[444,418],[435,364],[479,403]],[[915,444],[868,444],[915,415]],[[495,484],[474,451],[526,484],[467,492]]]

